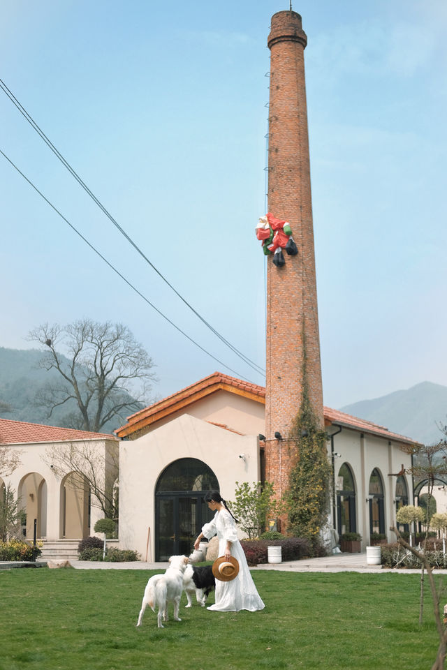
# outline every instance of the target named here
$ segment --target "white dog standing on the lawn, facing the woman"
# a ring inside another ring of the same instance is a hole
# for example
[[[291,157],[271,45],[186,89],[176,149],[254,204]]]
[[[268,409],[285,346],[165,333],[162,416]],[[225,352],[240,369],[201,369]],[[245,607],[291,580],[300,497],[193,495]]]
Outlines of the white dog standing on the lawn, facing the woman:
[[[180,597],[182,597],[183,589],[183,573],[188,565],[188,558],[186,556],[171,556],[169,559],[169,567],[164,574],[154,574],[147,582],[145,588],[145,595],[142,597],[142,604],[140,616],[138,616],[137,626],[141,625],[142,616],[145,613],[147,605],[155,611],[155,607],[159,608],[157,613],[157,623],[159,628],[164,628],[161,623],[168,620],[168,603],[174,603],[174,619],[181,621],[179,618]]]

